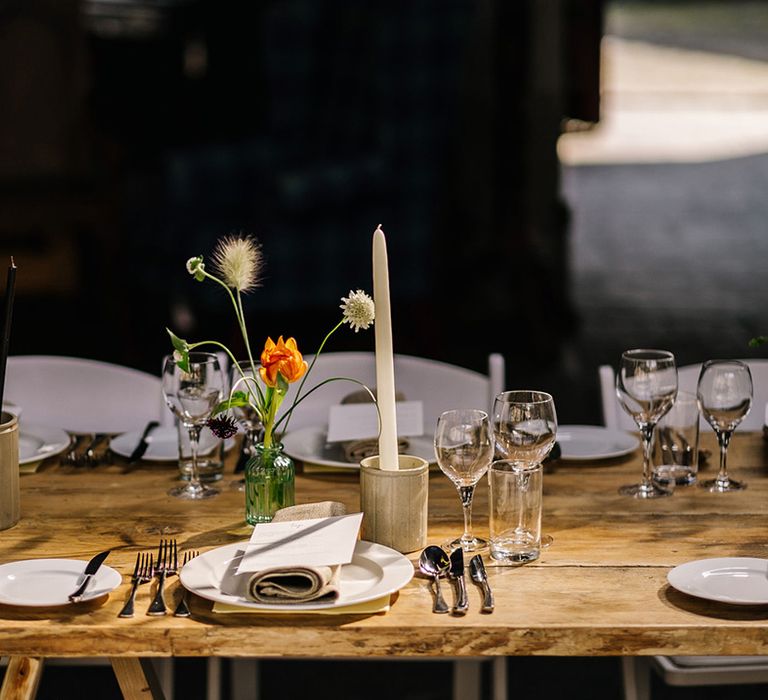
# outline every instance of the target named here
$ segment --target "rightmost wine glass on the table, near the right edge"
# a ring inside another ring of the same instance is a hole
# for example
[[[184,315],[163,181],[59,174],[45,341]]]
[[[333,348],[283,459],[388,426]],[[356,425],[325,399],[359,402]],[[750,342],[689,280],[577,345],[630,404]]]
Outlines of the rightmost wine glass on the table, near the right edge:
[[[702,488],[713,493],[747,488],[728,476],[726,459],[731,435],[752,408],[752,374],[738,360],[709,360],[701,367],[696,391],[701,412],[712,426],[720,445],[720,471],[715,479],[703,481]]]

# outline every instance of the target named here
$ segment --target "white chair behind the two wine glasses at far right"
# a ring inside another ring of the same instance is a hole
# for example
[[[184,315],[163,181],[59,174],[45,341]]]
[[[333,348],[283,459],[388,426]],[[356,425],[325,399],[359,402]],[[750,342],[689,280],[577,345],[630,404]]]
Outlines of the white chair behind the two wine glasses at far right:
[[[752,410],[738,429],[758,430],[765,420],[768,402],[768,360],[743,360],[749,365],[754,385]],[[678,368],[678,388],[696,393],[701,365]],[[635,422],[619,406],[615,390],[613,368],[599,368],[603,419],[609,428],[636,430]],[[710,429],[702,418],[702,427]],[[652,656],[624,657],[625,700],[650,700],[651,670],[656,671],[669,685],[741,685],[768,683],[768,657],[766,656]]]

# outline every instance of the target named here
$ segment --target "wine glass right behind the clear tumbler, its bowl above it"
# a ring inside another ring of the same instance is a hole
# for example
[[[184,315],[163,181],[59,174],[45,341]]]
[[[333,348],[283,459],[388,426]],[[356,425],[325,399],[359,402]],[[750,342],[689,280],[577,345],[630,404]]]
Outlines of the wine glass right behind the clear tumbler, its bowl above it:
[[[501,392],[493,402],[493,436],[500,459],[526,468],[541,464],[557,439],[552,395],[527,389]],[[551,544],[551,535],[541,536],[541,547]]]

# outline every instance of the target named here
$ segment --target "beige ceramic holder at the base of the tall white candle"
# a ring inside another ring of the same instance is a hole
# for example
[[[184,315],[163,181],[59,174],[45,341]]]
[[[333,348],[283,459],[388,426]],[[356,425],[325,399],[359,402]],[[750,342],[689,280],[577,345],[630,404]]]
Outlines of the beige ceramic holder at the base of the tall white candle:
[[[360,462],[362,538],[406,554],[427,544],[429,463],[399,455],[397,471],[379,469],[379,457]]]

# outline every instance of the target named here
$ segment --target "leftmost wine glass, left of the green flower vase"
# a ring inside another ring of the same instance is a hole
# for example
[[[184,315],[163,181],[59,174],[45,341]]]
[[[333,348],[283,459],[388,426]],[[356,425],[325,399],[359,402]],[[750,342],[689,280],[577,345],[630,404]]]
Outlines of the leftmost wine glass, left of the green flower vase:
[[[192,473],[183,486],[172,488],[168,493],[177,498],[199,500],[215,496],[218,489],[200,482],[198,471],[198,449],[200,430],[210,418],[224,392],[224,378],[221,375],[216,355],[207,352],[189,353],[189,371],[178,366],[172,355],[163,364],[163,396],[168,408],[179,419],[189,433],[192,453]]]

